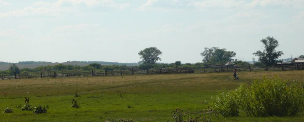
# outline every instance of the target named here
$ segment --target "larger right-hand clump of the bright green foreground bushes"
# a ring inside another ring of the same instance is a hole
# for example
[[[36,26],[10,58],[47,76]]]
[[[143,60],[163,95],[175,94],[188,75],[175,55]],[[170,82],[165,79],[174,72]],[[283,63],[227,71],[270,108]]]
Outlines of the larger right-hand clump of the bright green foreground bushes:
[[[248,87],[243,84],[238,94],[241,107],[247,115],[255,117],[293,116],[304,111],[304,91],[285,81],[274,79],[256,80]]]

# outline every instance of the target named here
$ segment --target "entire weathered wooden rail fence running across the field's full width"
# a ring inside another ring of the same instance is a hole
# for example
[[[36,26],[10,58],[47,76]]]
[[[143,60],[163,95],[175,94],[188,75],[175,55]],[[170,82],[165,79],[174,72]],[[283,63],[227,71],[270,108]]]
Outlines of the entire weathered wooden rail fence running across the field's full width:
[[[147,75],[147,74],[182,74],[182,73],[219,73],[233,72],[237,69],[242,71],[288,71],[288,70],[304,70],[304,64],[280,65],[280,66],[216,66],[200,69],[131,69],[131,70],[104,70],[91,71],[91,73],[56,73],[56,72],[41,72],[41,74],[26,74],[13,76],[0,76],[0,80],[4,79],[22,79],[22,78],[55,78],[55,77],[88,77],[88,76],[117,76],[117,75]]]

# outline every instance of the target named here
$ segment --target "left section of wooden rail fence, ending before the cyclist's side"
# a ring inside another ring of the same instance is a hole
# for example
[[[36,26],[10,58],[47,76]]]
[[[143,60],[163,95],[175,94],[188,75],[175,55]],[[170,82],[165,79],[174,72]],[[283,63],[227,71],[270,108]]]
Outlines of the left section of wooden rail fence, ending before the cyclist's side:
[[[13,76],[0,76],[0,80],[4,79],[21,79],[21,78],[55,78],[55,77],[88,77],[88,76],[115,76],[115,75],[143,75],[143,74],[181,74],[193,73],[192,69],[131,69],[131,70],[105,70],[105,71],[91,71],[91,73],[56,73],[56,72],[41,72],[41,74],[26,74]]]

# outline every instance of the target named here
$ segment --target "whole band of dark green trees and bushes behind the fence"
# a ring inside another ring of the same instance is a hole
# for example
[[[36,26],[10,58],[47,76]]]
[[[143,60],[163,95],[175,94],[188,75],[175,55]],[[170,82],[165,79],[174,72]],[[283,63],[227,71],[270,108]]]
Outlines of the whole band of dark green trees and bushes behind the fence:
[[[260,40],[263,44],[262,51],[256,51],[253,55],[259,57],[259,62],[256,62],[254,66],[272,66],[279,62],[278,58],[284,53],[282,51],[276,51],[279,46],[278,41],[273,37],[266,37]],[[128,70],[131,68],[138,69],[153,69],[153,68],[201,68],[203,66],[213,65],[213,64],[226,64],[228,61],[232,61],[234,64],[250,66],[252,64],[244,62],[241,60],[233,59],[236,56],[234,51],[227,51],[226,48],[212,47],[204,48],[203,52],[200,53],[202,56],[202,62],[191,64],[184,63],[181,61],[176,61],[175,63],[156,63],[161,61],[161,52],[156,47],[149,47],[138,52],[141,59],[139,61],[139,66],[126,66],[126,65],[101,65],[98,63],[91,63],[88,66],[74,66],[74,65],[64,65],[58,64],[54,66],[39,66],[36,68],[23,68],[19,69],[16,64],[12,64],[8,70],[0,71],[1,74],[11,74],[13,75],[29,72],[41,72],[41,71],[57,71],[57,70]],[[303,55],[299,57],[304,57]],[[24,62],[32,63],[32,62]],[[47,63],[47,62],[46,62]]]

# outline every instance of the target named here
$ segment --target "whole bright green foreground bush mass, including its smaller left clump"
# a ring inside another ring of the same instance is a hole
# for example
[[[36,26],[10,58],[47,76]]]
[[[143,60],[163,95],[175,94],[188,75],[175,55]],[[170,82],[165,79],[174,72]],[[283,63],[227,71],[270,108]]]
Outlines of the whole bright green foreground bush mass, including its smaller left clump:
[[[263,77],[251,86],[242,84],[213,98],[214,109],[222,116],[238,116],[239,109],[244,110],[247,116],[293,116],[303,113],[303,103],[303,88],[287,85],[278,77]]]

